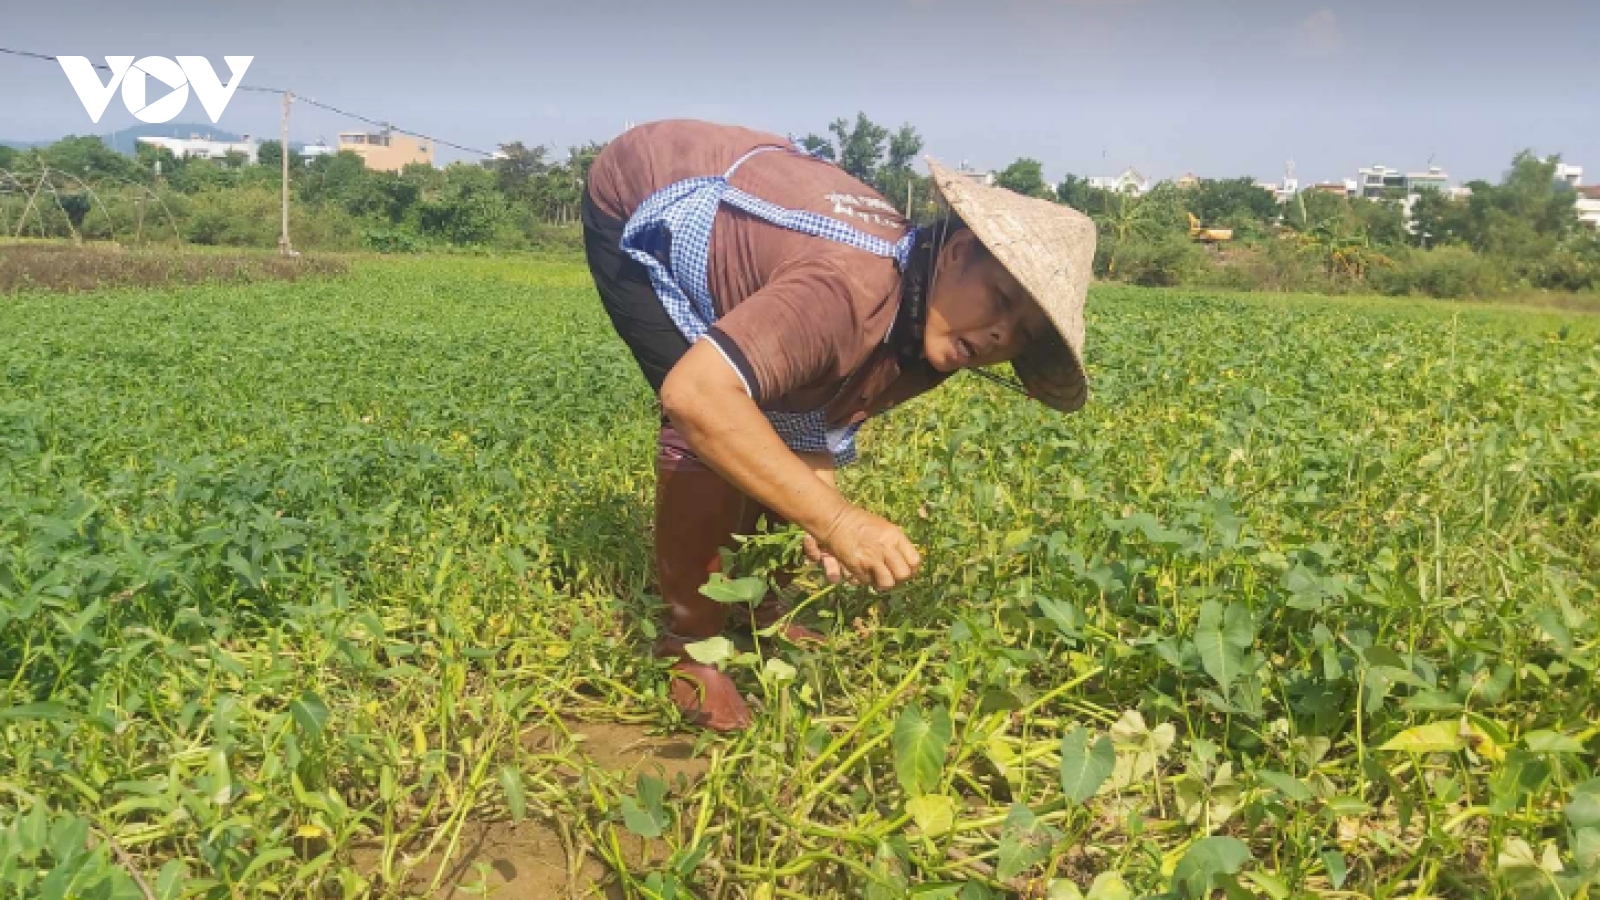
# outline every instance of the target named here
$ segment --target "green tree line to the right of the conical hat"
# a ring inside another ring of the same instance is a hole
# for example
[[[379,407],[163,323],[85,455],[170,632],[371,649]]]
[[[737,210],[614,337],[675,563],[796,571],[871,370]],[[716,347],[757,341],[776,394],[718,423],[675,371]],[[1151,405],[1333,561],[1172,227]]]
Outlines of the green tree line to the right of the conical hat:
[[[1098,274],[1138,283],[1442,298],[1595,291],[1600,234],[1579,221],[1558,162],[1522,152],[1499,183],[1472,181],[1466,197],[1422,191],[1410,221],[1400,197],[1304,191],[1278,203],[1248,178],[1162,183],[1131,197],[1067,176],[1054,195],[1098,223]],[[1234,240],[1202,247],[1190,215]]]

